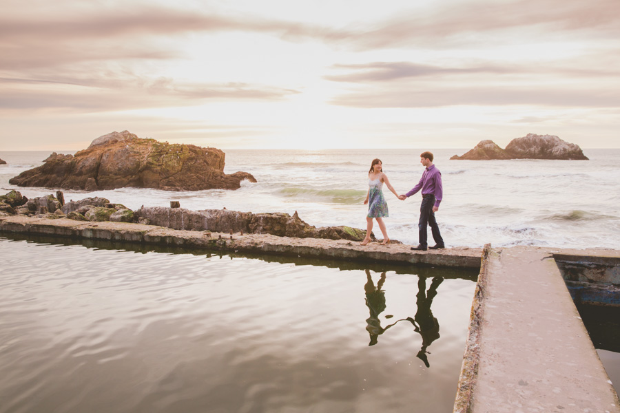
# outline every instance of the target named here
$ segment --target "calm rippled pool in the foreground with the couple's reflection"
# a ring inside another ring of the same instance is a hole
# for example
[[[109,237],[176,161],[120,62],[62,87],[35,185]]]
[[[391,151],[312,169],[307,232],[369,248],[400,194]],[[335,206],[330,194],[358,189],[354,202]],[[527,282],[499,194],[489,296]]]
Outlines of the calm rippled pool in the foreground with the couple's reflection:
[[[0,237],[0,412],[452,410],[475,272],[130,248]]]

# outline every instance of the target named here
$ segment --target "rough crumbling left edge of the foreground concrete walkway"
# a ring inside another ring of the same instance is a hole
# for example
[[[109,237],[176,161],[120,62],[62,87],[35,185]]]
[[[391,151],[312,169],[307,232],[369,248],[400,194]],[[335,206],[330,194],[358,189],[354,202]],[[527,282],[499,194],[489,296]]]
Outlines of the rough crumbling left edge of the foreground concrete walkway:
[[[454,401],[453,413],[471,413],[472,396],[478,377],[480,361],[480,329],[484,319],[484,295],[486,292],[486,269],[490,255],[490,244],[482,250],[480,273],[471,304],[468,335],[465,341],[465,352],[459,376],[459,385]]]

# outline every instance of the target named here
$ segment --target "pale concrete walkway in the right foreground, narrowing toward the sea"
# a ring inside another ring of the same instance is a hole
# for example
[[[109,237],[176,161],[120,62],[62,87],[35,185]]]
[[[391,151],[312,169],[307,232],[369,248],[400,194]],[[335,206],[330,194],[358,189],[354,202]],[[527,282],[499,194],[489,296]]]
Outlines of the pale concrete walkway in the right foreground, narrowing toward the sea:
[[[620,412],[552,254],[484,255],[455,412]]]

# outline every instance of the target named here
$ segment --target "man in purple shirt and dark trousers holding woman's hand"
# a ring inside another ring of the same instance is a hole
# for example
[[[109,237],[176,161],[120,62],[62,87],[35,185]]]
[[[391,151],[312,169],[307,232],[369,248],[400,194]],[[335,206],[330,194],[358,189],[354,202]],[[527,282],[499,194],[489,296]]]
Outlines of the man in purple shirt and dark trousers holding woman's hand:
[[[417,193],[422,189],[422,205],[420,205],[420,222],[418,227],[420,229],[420,235],[418,238],[418,246],[411,247],[412,250],[426,251],[428,248],[426,233],[426,226],[431,226],[431,233],[433,233],[433,240],[435,240],[435,246],[431,246],[431,249],[446,248],[444,239],[437,226],[437,220],[435,220],[435,212],[439,210],[440,202],[444,195],[444,188],[442,186],[442,173],[435,165],[433,165],[433,153],[422,152],[420,153],[420,163],[426,167],[424,173],[422,173],[422,179],[417,182],[417,185],[407,192],[405,195],[400,195],[400,200],[405,200],[411,195]]]

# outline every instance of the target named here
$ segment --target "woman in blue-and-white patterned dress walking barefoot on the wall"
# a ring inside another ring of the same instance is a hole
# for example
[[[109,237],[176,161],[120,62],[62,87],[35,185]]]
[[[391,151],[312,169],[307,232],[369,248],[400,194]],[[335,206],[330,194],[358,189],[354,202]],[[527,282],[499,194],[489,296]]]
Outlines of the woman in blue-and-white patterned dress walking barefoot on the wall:
[[[368,193],[366,193],[366,200],[364,200],[364,205],[368,204],[368,215],[366,215],[366,237],[364,237],[364,241],[360,243],[360,245],[366,245],[370,242],[370,234],[373,231],[373,218],[377,220],[379,224],[379,228],[383,233],[383,242],[381,245],[387,245],[390,243],[390,239],[387,236],[387,232],[385,231],[385,224],[383,222],[383,217],[387,217],[388,209],[387,203],[385,202],[385,198],[383,198],[382,187],[385,183],[390,191],[398,198],[398,194],[395,189],[390,184],[390,181],[387,178],[387,175],[383,173],[382,163],[380,159],[373,159],[373,163],[371,164],[371,169],[368,171]]]

